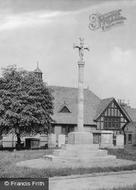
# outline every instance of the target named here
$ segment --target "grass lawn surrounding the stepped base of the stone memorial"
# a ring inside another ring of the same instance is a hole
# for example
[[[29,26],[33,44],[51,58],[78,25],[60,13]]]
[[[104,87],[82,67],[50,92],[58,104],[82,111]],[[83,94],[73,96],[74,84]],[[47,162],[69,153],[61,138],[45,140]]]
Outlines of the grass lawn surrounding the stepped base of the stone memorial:
[[[136,152],[128,153],[121,149],[109,149],[109,154],[114,154],[117,158],[136,161]],[[33,169],[27,167],[17,167],[16,163],[24,160],[42,158],[45,154],[51,154],[52,150],[23,150],[23,151],[0,151],[0,178],[4,177],[52,177],[67,176],[72,174],[85,174],[95,172],[110,172],[136,170],[136,164],[116,167],[95,167],[95,168],[47,168]]]

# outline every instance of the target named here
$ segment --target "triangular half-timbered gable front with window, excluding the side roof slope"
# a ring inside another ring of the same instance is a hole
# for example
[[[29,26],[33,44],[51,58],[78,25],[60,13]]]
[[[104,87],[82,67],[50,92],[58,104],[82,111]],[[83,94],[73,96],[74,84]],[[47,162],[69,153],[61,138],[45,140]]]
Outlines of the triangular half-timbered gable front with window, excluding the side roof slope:
[[[121,130],[128,123],[128,118],[113,99],[96,119],[97,128],[103,130]]]

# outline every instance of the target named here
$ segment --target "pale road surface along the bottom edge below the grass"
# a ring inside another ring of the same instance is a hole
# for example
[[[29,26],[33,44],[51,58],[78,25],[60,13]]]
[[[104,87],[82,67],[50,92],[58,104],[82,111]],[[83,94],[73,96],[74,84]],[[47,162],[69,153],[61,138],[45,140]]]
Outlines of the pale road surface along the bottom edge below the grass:
[[[111,172],[98,175],[54,177],[49,179],[49,190],[98,190],[136,184],[136,171]]]

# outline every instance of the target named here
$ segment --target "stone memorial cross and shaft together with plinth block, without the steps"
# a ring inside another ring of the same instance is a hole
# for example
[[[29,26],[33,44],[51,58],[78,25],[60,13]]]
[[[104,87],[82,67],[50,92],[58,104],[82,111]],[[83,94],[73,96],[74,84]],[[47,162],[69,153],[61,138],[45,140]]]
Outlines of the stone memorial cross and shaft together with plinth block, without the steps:
[[[80,44],[74,45],[79,50],[80,60],[78,61],[78,104],[77,104],[77,131],[68,134],[68,144],[92,144],[93,136],[84,130],[84,39],[80,38]]]

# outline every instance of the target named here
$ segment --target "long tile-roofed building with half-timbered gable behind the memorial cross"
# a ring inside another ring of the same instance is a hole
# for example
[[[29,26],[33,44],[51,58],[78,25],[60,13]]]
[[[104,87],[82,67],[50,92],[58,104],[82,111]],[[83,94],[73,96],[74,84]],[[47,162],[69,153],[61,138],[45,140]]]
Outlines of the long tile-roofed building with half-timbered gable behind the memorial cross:
[[[36,75],[42,78],[37,67]],[[49,86],[54,96],[52,132],[68,135],[77,130],[78,89]],[[133,130],[131,130],[133,128]],[[84,89],[84,129],[94,133],[94,143],[99,143],[100,131],[113,131],[113,144],[116,137],[124,135],[126,145],[136,144],[136,109],[115,98],[100,99],[91,90]]]

